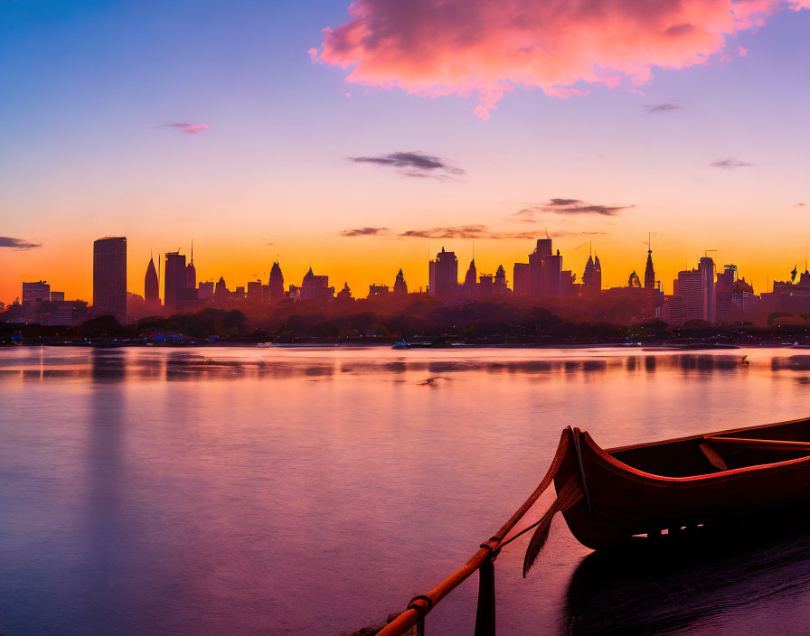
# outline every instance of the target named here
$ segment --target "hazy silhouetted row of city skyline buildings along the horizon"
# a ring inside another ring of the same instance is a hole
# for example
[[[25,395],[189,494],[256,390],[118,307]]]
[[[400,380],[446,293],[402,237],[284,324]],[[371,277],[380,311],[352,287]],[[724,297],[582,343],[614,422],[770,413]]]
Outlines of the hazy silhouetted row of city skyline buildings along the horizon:
[[[417,293],[435,296],[449,304],[498,295],[556,298],[560,302],[579,299],[580,303],[597,303],[604,297],[632,302],[640,307],[636,319],[660,317],[671,326],[692,321],[730,323],[748,319],[763,311],[810,313],[810,271],[805,269],[796,282],[796,267],[789,281],[774,281],[770,293],[755,295],[753,287],[745,278],[739,277],[737,266],[725,265],[721,272],[717,272],[714,260],[707,252],[699,259],[696,268],[678,272],[673,280],[673,294],[664,295],[660,281],[655,280],[651,245],[647,246],[644,283],[633,271],[627,278],[626,286],[609,289],[602,288],[602,264],[592,250],[579,282],[571,269],[563,269],[560,250],[554,249],[548,237],[535,241],[527,261],[514,263],[511,289],[503,265],[497,267],[494,275],[481,273],[475,257],[466,268],[463,281],[459,282],[456,253],[442,247],[434,258],[429,259],[429,285],[424,291],[420,287]],[[328,303],[354,300],[348,282],[344,282],[335,294],[335,287],[329,284],[329,276],[316,274],[312,267],[303,276],[301,285],[288,285],[285,288],[285,278],[278,260],[270,268],[267,284],[254,280],[247,287],[236,286],[232,291],[222,276],[216,284],[213,281],[197,282],[193,251],[188,263],[179,250],[167,252],[163,256],[163,267],[160,265],[160,257],[156,267],[155,257],[149,258],[143,296],[127,292],[127,239],[98,239],[93,244],[93,305],[89,312],[86,311],[86,303],[65,301],[63,293],[52,292],[50,285],[41,280],[24,282],[22,304],[15,302],[6,307],[4,318],[18,322],[71,324],[88,316],[112,315],[124,323],[159,313],[193,312],[206,305],[236,308],[241,304],[259,306],[285,301]],[[161,269],[163,300],[160,298]],[[372,284],[365,297],[394,297],[409,293],[414,292],[409,290],[400,268],[391,287]]]

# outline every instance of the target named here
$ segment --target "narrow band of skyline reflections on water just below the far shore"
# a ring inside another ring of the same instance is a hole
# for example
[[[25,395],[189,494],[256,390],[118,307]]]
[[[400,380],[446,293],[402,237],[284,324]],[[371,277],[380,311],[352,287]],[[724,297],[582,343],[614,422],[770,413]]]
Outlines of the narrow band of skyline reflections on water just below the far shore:
[[[34,350],[35,351],[35,350]],[[265,351],[249,349],[248,355],[231,357],[229,350],[177,351],[163,350],[144,353],[138,350],[88,350],[72,356],[51,356],[47,368],[42,368],[39,355],[15,357],[3,360],[0,355],[0,381],[3,379],[84,379],[98,381],[123,381],[124,379],[184,381],[184,380],[239,380],[239,379],[285,379],[290,377],[331,378],[346,374],[407,374],[427,373],[429,375],[454,374],[469,371],[487,374],[527,374],[542,375],[561,373],[563,375],[589,375],[599,373],[644,373],[680,370],[683,372],[722,371],[739,373],[748,371],[749,365],[742,363],[745,353],[716,354],[701,352],[665,352],[634,354],[611,351],[611,355],[600,357],[598,352],[589,356],[572,351],[571,359],[566,359],[566,351],[555,350],[555,357],[546,358],[546,351],[535,350],[537,359],[508,360],[513,353],[502,350],[504,360],[497,355],[485,360],[469,360],[455,351],[447,354],[447,360],[423,360],[412,353],[399,354],[396,360],[388,360],[391,353],[376,350],[383,355],[379,360],[353,355],[357,351],[337,350],[341,357],[332,360],[319,360],[307,357],[304,360],[289,360],[288,357],[273,357]],[[290,351],[287,349],[286,353]],[[325,358],[334,355],[336,350],[328,350]],[[372,350],[374,351],[374,350]],[[525,350],[517,350],[526,356]],[[740,350],[742,351],[742,350]],[[433,358],[438,358],[434,354]],[[456,358],[456,359],[454,359]],[[89,362],[89,365],[88,365]],[[810,370],[810,356],[772,355],[760,360],[772,371]],[[756,366],[756,365],[752,365]]]

